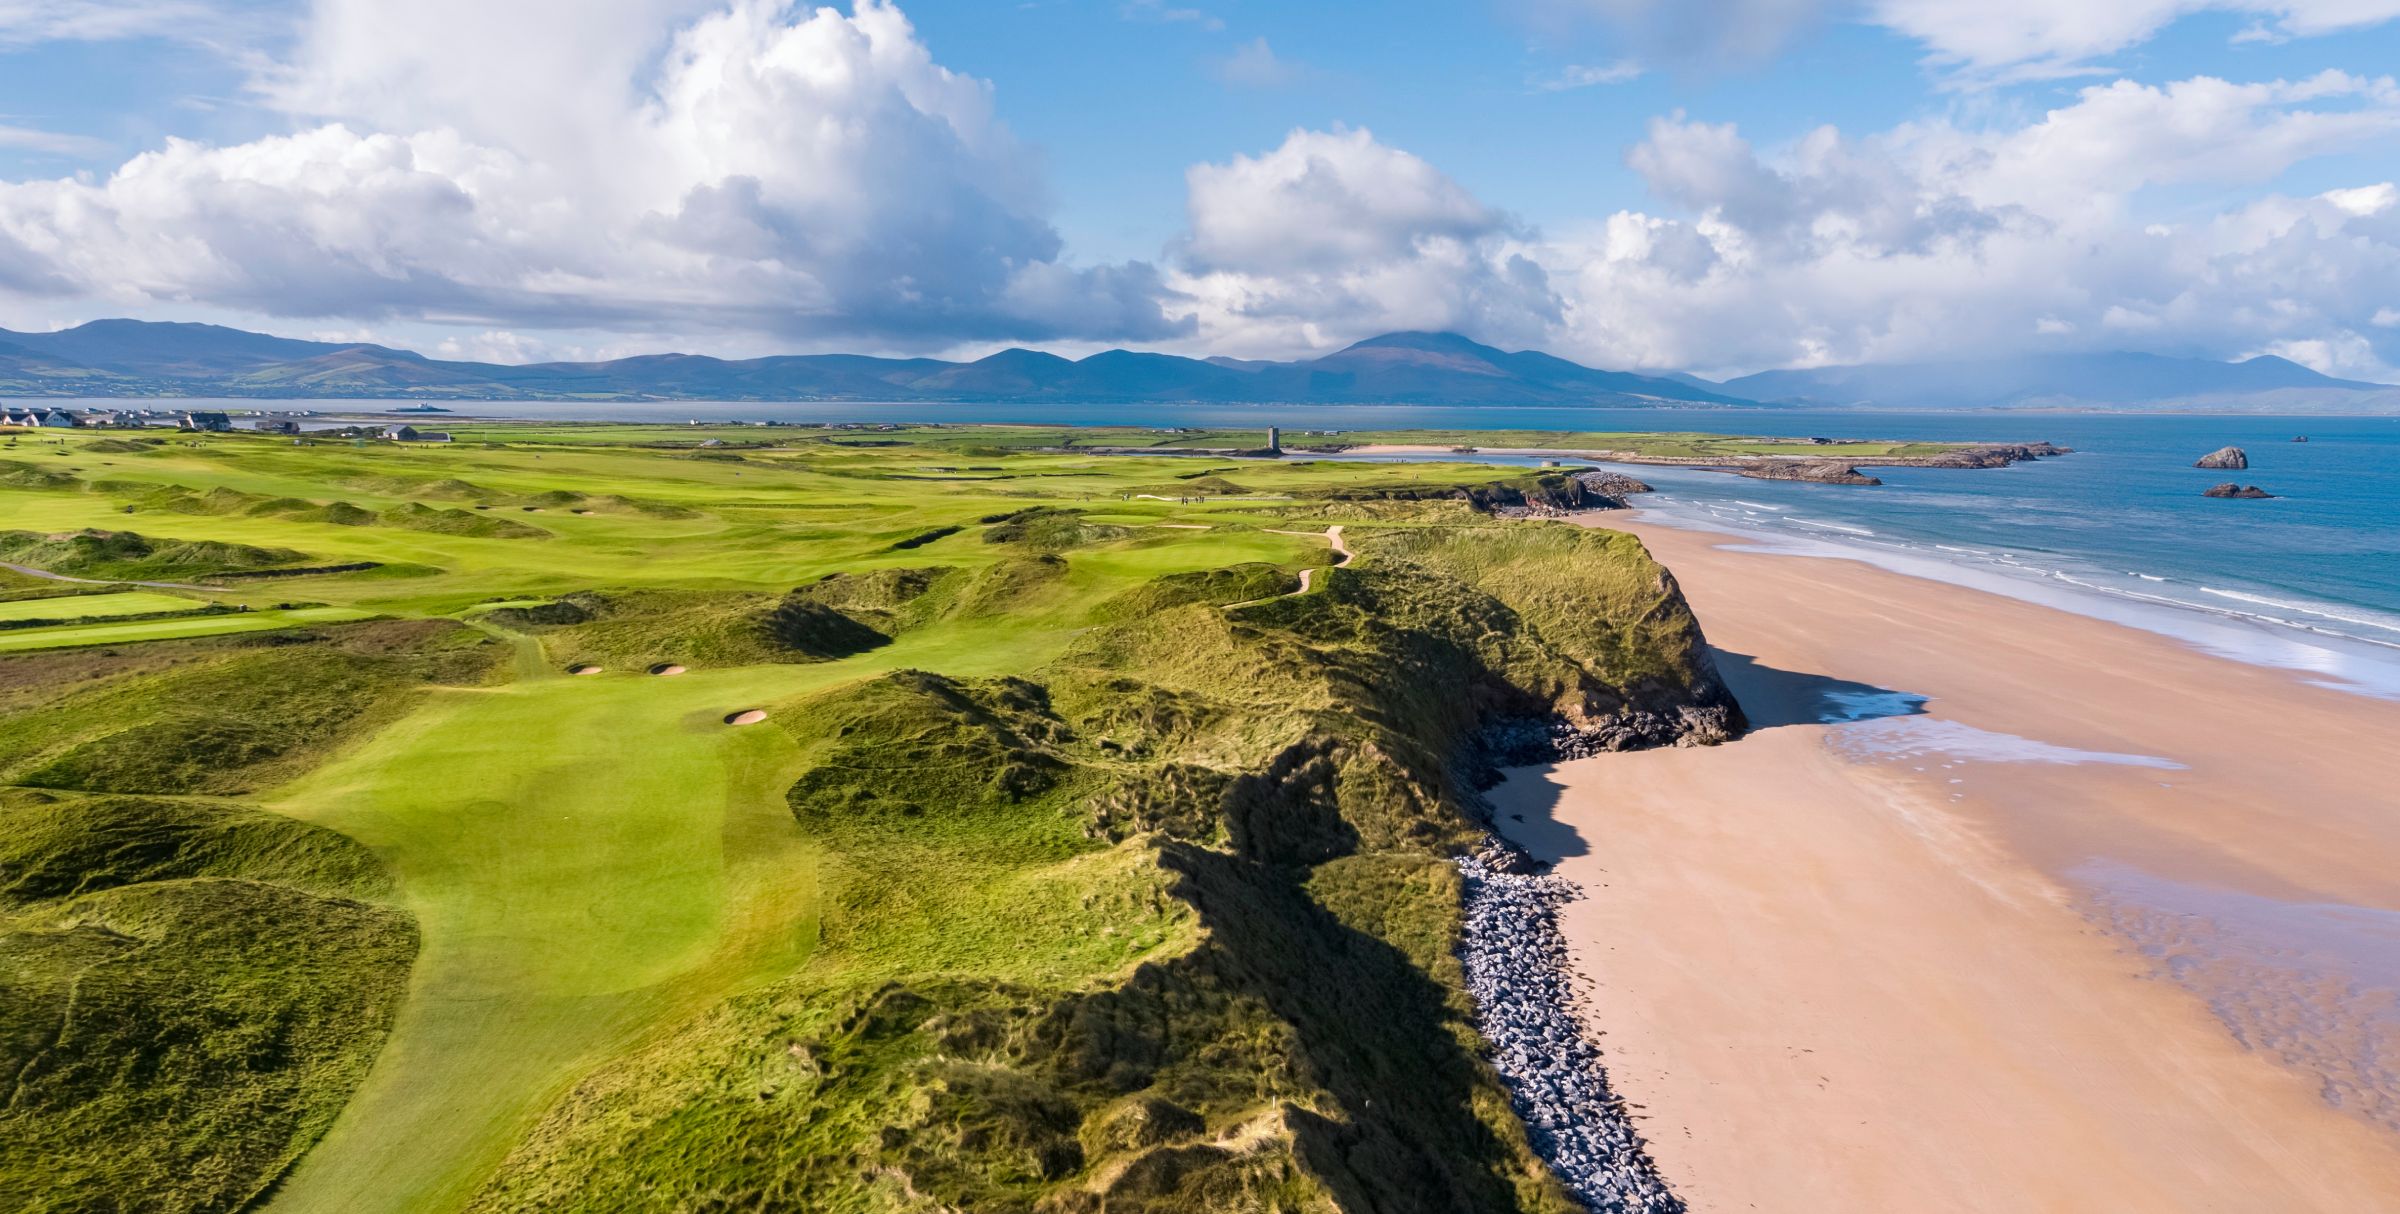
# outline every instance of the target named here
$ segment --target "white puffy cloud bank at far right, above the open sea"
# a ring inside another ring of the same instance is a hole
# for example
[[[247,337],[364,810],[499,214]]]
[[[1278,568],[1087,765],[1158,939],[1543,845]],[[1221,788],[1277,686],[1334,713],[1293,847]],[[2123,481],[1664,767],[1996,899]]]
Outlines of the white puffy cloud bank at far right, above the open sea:
[[[2400,283],[2390,185],[2270,194],[2201,223],[2146,223],[2141,194],[2256,182],[2395,132],[2393,84],[2342,74],[2117,82],[2021,127],[1826,127],[1776,154],[1675,115],[1627,163],[1680,214],[1620,214],[1534,257],[1567,300],[1560,345],[1613,362],[1754,369],[2138,336],[2218,355],[2282,343],[2388,374],[2400,343],[2374,314]]]

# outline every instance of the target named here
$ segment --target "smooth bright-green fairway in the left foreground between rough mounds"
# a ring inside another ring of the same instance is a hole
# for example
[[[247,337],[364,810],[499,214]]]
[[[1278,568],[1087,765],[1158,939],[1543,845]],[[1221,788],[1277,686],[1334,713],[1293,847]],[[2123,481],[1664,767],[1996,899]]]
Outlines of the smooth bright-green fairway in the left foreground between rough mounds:
[[[408,1003],[276,1212],[456,1209],[643,1029],[797,967],[816,873],[797,761],[727,708],[838,667],[446,691],[274,806],[374,847],[422,931]]]

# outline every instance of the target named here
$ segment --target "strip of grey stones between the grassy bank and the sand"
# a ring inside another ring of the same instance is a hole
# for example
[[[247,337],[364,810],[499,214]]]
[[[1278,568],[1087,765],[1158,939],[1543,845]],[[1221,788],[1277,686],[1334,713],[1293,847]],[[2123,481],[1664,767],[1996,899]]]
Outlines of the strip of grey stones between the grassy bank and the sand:
[[[1534,1152],[1594,1214],[1682,1214],[1642,1147],[1625,1101],[1608,1092],[1601,1051],[1574,1020],[1574,967],[1558,907],[1582,897],[1560,876],[1488,847],[1459,859],[1466,928],[1459,960],[1476,1027],[1493,1046]]]

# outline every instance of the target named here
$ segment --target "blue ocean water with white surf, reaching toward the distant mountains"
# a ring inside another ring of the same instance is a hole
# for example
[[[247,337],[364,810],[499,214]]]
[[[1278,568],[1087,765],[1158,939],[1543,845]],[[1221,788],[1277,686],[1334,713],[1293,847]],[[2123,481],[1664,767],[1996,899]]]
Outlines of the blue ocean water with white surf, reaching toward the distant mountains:
[[[394,401],[396,405],[398,401]],[[257,408],[259,401],[226,401]],[[281,401],[355,413],[370,401]],[[518,403],[454,417],[1202,425],[1291,429],[1697,429],[1834,439],[2035,441],[2074,456],[1997,470],[1889,468],[1882,487],[1637,468],[1642,506],[1778,552],[1853,557],[2162,631],[2225,657],[2400,698],[2400,417],[2201,417],[2030,410],[1603,410],[1104,403]],[[2292,441],[2306,434],[2306,444]],[[2246,473],[2191,461],[2220,446]],[[1445,456],[1454,458],[1454,456]],[[1529,463],[1486,453],[1488,463]],[[2273,501],[2201,489],[2239,477]]]

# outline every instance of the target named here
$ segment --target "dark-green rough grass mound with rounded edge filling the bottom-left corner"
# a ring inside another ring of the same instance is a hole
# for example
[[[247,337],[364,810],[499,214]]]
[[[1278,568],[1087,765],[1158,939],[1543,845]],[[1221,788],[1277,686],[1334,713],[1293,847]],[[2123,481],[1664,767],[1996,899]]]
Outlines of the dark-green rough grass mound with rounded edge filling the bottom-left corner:
[[[247,1207],[391,1027],[418,940],[386,893],[254,809],[0,799],[0,1204]]]

